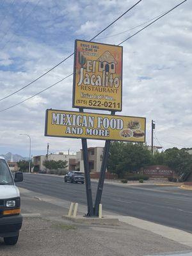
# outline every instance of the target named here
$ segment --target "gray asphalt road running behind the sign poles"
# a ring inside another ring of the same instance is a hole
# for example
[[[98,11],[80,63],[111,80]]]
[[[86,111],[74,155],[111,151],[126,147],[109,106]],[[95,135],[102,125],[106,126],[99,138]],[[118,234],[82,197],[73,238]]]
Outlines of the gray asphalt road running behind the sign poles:
[[[24,181],[17,185],[36,193],[86,205],[85,185],[65,183],[61,177],[25,173]],[[93,200],[96,191],[97,183],[92,182]],[[153,185],[124,188],[105,184],[102,205],[106,211],[192,233],[192,191]]]

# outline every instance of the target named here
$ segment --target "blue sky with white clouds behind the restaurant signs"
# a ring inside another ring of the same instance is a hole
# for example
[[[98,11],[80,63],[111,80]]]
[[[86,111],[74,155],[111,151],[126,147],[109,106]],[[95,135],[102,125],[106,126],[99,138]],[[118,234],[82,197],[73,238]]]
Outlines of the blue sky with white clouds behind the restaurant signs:
[[[0,92],[4,97],[40,76],[74,51],[74,40],[90,40],[125,12],[133,0],[0,1]],[[135,28],[166,12],[178,0],[143,0],[95,42],[119,44],[138,31]],[[140,34],[124,47],[123,111],[121,115],[147,117],[147,143],[150,122],[156,121],[155,144],[192,147],[191,43],[192,4],[188,0]],[[127,32],[124,32],[127,31]],[[116,35],[118,34],[118,35]],[[1,109],[17,104],[73,71],[73,58],[65,61],[25,90],[0,102]],[[72,110],[72,77],[19,106],[0,113],[0,154],[8,151],[32,154],[76,152],[81,140],[45,138],[45,109]],[[74,109],[75,110],[75,109]],[[159,141],[159,142],[158,142]],[[88,141],[88,146],[104,145]]]

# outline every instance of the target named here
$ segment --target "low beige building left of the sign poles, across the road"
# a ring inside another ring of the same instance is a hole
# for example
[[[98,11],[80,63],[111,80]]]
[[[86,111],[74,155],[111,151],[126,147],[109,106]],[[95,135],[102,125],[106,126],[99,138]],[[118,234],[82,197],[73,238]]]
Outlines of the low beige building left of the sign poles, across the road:
[[[67,161],[67,170],[76,170],[76,155],[63,154],[62,152],[60,152],[59,154],[49,154],[48,156],[34,156],[34,167],[36,166],[38,170],[44,170],[45,160]]]

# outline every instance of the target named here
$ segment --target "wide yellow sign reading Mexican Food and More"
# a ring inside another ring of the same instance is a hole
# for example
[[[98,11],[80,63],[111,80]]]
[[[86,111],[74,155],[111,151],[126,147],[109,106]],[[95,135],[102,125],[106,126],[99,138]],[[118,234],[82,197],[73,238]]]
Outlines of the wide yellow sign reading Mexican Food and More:
[[[145,142],[143,117],[47,109],[45,136]]]

